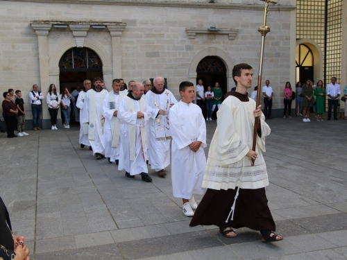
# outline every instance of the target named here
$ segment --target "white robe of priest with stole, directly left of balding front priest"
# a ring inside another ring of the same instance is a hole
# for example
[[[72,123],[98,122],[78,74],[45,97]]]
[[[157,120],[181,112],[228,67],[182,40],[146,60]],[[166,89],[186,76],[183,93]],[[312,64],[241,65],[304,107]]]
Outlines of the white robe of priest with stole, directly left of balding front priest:
[[[121,103],[122,98],[124,98],[122,92],[117,94],[113,90],[103,98],[103,116],[105,116],[103,146],[105,157],[110,158],[110,162],[119,159],[121,121],[118,116],[113,116],[113,113],[119,110],[119,103]]]

